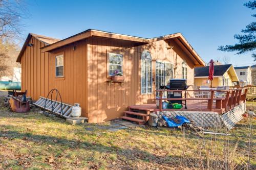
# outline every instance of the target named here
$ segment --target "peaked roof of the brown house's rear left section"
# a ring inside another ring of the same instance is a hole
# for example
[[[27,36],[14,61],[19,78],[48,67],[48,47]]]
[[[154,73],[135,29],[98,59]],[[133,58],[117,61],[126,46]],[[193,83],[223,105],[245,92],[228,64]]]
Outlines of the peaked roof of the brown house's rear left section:
[[[41,41],[42,43],[45,43],[46,45],[50,45],[52,43],[55,43],[57,41],[59,41],[59,39],[56,39],[56,38],[52,38],[52,37],[47,37],[47,36],[44,36],[44,35],[38,35],[38,34],[33,34],[33,33],[29,33],[23,46],[22,46],[22,50],[20,50],[19,52],[19,55],[16,59],[16,62],[20,62],[20,59],[22,58],[22,55],[29,43],[29,40],[34,37],[36,39],[38,39],[39,41]]]

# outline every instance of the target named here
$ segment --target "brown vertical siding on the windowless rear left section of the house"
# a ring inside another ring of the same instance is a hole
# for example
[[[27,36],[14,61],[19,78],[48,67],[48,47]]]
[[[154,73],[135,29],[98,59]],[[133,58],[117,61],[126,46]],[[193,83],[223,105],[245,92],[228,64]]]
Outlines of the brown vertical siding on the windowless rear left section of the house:
[[[31,38],[23,53],[22,64],[22,91],[28,90],[32,100],[39,96],[46,96],[49,92],[49,53],[41,53],[40,48],[46,44]]]

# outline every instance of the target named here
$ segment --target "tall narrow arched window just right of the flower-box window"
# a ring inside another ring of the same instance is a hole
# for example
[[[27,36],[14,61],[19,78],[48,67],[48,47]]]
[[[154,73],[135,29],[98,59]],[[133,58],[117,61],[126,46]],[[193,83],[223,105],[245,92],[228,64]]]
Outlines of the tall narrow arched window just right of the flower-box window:
[[[152,93],[152,58],[147,50],[141,55],[141,93]]]

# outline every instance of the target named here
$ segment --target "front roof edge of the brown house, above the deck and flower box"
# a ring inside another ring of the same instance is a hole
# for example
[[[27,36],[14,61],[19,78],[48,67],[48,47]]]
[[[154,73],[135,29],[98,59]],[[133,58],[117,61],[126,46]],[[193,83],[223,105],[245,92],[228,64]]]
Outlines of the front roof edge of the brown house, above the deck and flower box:
[[[42,52],[49,52],[49,51],[54,50],[55,48],[73,43],[75,41],[90,38],[90,37],[104,37],[104,38],[112,38],[112,39],[119,39],[119,40],[127,40],[127,41],[133,41],[133,42],[136,42],[139,44],[147,44],[147,43],[154,42],[154,41],[167,40],[167,39],[174,38],[175,40],[177,40],[177,42],[180,45],[184,46],[185,51],[190,56],[193,56],[194,60],[198,63],[197,66],[205,66],[204,61],[196,53],[194,48],[187,42],[187,40],[183,37],[183,35],[181,33],[169,34],[169,35],[155,37],[155,38],[142,38],[142,37],[136,37],[136,36],[130,36],[130,35],[117,34],[117,33],[89,29],[89,30],[83,31],[81,33],[78,33],[76,35],[73,35],[71,37],[68,37],[66,39],[49,44],[45,47],[42,47],[41,49],[42,49]]]

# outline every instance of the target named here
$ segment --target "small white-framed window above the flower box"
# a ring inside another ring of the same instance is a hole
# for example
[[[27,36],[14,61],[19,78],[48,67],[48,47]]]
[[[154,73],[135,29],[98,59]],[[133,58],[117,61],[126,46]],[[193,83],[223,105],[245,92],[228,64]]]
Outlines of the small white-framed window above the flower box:
[[[115,70],[123,73],[123,56],[109,53],[109,75],[114,75]]]

